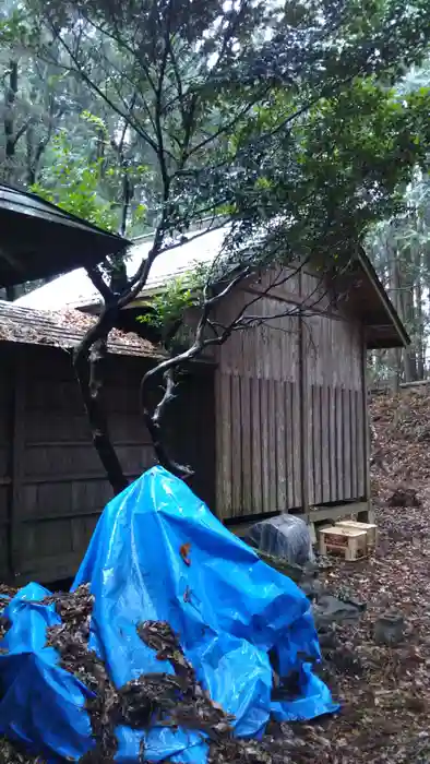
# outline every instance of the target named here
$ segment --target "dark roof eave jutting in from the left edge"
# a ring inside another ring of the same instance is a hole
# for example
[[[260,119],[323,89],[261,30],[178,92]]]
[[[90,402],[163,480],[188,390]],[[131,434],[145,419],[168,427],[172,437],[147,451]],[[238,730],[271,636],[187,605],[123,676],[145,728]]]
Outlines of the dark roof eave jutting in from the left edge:
[[[0,183],[0,287],[88,267],[130,244],[7,183]]]

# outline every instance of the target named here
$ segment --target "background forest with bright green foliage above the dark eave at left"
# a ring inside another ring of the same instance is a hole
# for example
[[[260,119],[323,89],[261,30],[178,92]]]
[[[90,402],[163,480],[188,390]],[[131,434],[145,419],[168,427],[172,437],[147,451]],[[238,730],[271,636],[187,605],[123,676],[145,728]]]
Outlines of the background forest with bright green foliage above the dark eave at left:
[[[142,200],[151,170],[123,121],[77,77],[38,59],[13,35],[3,35],[0,73],[0,180],[108,230],[145,232]],[[0,296],[13,300],[44,283],[1,289]]]

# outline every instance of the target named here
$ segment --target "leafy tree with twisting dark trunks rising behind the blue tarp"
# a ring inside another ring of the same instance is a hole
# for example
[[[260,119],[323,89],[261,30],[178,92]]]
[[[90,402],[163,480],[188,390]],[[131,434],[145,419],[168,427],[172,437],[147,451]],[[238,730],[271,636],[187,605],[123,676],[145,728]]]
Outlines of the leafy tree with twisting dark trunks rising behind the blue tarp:
[[[182,308],[191,299],[199,309],[189,347],[171,344],[182,314],[162,322],[169,357],[142,381],[158,457],[183,474],[162,442],[178,371],[255,324],[249,305],[220,326],[214,320],[220,301],[258,268],[282,268],[298,255],[319,253],[324,272],[347,267],[368,225],[393,211],[398,183],[425,163],[429,94],[398,98],[390,85],[423,56],[430,8],[389,0],[34,0],[31,7],[29,22],[15,14],[3,34],[85,85],[96,104],[91,111],[115,116],[115,144],[121,135],[127,146],[136,141],[154,168],[146,191],[152,249],[119,293],[100,270],[89,273],[104,307],[75,354],[94,441],[117,491],[126,481],[98,392],[107,337],[121,311],[162,252],[184,235],[199,236],[193,226],[218,227],[227,217],[216,267],[193,283],[198,297],[181,293]],[[154,314],[146,318],[136,333],[147,332]],[[151,406],[154,377],[165,390]]]

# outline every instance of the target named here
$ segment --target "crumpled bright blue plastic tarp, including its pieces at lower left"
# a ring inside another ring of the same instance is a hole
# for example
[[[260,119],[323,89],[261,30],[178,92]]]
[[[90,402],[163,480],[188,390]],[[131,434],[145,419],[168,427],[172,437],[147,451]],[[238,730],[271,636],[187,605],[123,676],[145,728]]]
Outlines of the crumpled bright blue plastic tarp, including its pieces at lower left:
[[[190,564],[180,553],[191,545]],[[336,711],[327,688],[311,671],[319,659],[309,602],[287,577],[261,562],[178,478],[154,467],[105,509],[73,587],[91,583],[95,596],[91,646],[117,687],[142,673],[172,672],[139,637],[144,620],[168,621],[198,679],[236,717],[235,733],[260,737],[270,715],[311,719]],[[0,647],[0,733],[49,762],[77,760],[93,747],[84,708],[89,691],[45,647],[46,629],[60,622],[49,594],[29,584],[4,614],[12,622]],[[300,695],[271,700],[268,652],[280,676],[297,670]],[[188,730],[117,730],[118,762],[145,756],[204,764],[207,745]]]

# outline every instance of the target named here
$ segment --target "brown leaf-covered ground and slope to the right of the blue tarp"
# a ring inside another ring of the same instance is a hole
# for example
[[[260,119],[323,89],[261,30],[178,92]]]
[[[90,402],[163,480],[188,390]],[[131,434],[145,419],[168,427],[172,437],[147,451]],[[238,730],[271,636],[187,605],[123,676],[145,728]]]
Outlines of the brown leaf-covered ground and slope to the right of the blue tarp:
[[[262,745],[218,749],[211,762],[430,764],[430,390],[375,396],[371,414],[377,550],[359,562],[333,561],[320,574],[325,592],[367,605],[358,622],[338,629],[323,670],[341,711],[312,724],[282,725]],[[420,506],[391,508],[398,488],[414,489]],[[387,610],[406,623],[396,647],[373,637],[375,620]],[[0,741],[0,764],[29,761]]]

